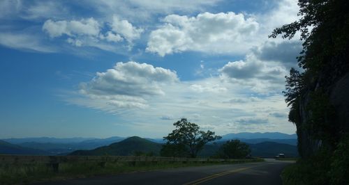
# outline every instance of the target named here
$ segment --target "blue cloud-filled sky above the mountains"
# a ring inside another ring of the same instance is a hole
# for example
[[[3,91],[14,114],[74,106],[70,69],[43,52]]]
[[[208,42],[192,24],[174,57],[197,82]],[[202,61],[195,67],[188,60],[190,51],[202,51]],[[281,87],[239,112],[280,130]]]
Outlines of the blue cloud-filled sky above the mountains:
[[[0,1],[0,138],[295,133],[295,0]]]

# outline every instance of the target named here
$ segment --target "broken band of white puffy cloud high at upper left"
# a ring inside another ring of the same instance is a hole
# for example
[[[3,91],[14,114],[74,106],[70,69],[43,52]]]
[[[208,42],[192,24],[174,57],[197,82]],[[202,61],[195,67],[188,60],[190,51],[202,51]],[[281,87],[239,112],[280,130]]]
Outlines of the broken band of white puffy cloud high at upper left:
[[[113,16],[112,22],[105,24],[98,22],[93,17],[80,20],[59,20],[48,19],[42,27],[50,38],[59,38],[64,35],[68,37],[66,42],[75,47],[97,47],[107,51],[115,51],[117,42],[128,41],[127,49],[131,49],[132,42],[140,38],[143,29],[133,26],[126,19],[119,19]],[[103,33],[103,31],[105,31]]]

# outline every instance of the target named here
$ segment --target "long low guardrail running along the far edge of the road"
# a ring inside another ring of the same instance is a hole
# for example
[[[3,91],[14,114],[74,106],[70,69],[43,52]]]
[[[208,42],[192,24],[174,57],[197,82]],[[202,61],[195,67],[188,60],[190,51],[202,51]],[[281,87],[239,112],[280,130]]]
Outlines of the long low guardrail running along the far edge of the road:
[[[246,159],[251,160],[251,159]],[[239,163],[239,159],[209,159],[209,158],[179,158],[161,156],[21,156],[21,155],[0,155],[1,165],[16,164],[46,164],[54,172],[58,172],[59,163],[98,163],[105,166],[105,163],[126,162],[135,166],[137,162],[168,162],[168,163]]]

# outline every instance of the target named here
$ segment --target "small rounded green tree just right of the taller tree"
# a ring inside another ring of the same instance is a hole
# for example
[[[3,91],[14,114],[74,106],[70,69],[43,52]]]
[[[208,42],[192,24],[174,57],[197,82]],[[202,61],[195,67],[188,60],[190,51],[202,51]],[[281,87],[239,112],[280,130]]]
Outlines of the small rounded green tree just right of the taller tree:
[[[221,146],[221,157],[228,159],[242,159],[251,154],[251,149],[246,143],[240,140],[228,140]]]

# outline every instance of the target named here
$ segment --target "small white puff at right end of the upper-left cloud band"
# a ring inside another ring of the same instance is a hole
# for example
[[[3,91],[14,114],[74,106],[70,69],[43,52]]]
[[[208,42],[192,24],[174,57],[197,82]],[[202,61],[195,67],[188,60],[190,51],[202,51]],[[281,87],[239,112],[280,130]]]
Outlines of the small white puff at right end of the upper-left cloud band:
[[[140,34],[143,32],[143,29],[136,28],[128,20],[121,20],[116,15],[113,16],[110,26],[112,27],[112,31],[122,35],[128,42],[140,38]]]

